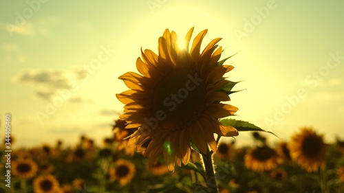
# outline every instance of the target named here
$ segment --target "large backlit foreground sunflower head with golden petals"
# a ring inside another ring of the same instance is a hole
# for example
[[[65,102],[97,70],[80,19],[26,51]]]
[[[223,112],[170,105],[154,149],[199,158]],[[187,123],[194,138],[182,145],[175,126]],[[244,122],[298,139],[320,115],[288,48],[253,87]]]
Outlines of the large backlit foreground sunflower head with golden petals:
[[[232,126],[224,126],[218,119],[233,115],[237,107],[222,104],[229,101],[224,87],[230,84],[223,78],[233,66],[222,65],[218,60],[221,38],[215,38],[200,53],[202,39],[207,30],[195,37],[189,51],[193,28],[185,36],[185,49],[178,47],[177,34],[165,30],[158,41],[158,55],[149,49],[141,51],[136,67],[142,74],[127,72],[119,78],[130,90],[117,95],[125,104],[126,128],[138,128],[129,139],[129,145],[138,148],[151,140],[144,151],[149,155],[149,166],[162,154],[173,170],[189,162],[191,141],[204,154],[207,146],[216,152],[213,133],[237,136]]]

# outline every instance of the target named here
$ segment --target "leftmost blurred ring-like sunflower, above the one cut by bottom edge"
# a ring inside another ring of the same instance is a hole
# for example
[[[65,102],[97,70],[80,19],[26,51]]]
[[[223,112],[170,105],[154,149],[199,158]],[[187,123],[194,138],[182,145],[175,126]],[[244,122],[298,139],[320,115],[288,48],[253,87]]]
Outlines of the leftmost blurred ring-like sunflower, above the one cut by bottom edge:
[[[31,159],[18,159],[12,162],[12,172],[14,177],[19,179],[30,179],[36,174],[37,164]]]

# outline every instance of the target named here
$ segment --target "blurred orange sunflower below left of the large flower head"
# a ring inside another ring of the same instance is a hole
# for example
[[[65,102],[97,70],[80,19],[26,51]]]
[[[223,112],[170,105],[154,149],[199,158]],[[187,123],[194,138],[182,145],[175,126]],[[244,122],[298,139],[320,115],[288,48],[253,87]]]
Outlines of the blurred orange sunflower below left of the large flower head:
[[[118,159],[115,167],[109,169],[109,178],[110,181],[118,181],[120,185],[127,185],[133,179],[135,172],[133,163],[125,159]]]

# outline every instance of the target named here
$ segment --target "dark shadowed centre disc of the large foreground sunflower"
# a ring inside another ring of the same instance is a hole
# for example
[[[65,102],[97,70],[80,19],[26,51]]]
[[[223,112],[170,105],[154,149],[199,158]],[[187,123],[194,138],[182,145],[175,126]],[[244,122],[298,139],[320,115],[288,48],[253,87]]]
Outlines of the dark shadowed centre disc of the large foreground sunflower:
[[[155,89],[152,118],[164,128],[182,130],[198,120],[206,102],[206,83],[191,68],[175,69]]]

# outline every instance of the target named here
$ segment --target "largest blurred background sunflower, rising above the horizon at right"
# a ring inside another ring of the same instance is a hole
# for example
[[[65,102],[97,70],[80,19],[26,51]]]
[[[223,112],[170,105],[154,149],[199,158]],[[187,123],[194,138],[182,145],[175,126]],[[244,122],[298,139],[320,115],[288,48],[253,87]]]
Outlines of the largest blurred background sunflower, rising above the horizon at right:
[[[301,133],[293,135],[289,149],[292,159],[308,172],[317,172],[319,167],[325,167],[327,146],[323,135],[317,135],[312,128],[301,128]]]

